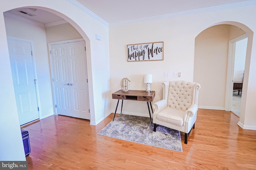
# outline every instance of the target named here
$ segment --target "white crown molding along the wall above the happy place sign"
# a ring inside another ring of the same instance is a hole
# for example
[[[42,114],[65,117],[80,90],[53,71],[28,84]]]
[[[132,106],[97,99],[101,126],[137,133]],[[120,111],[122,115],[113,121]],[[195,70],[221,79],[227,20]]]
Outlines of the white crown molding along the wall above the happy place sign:
[[[218,11],[218,10],[239,8],[239,7],[243,7],[243,6],[252,6],[252,5],[256,5],[256,0],[240,2],[240,3],[235,3],[235,4],[222,5],[222,6],[214,6],[214,7],[210,7],[210,8],[201,8],[201,9],[198,9],[198,10],[177,12],[177,13],[166,14],[166,15],[161,15],[161,16],[153,16],[153,17],[136,19],[136,20],[122,21],[122,22],[117,22],[117,23],[111,23],[111,24],[109,24],[109,26],[125,25],[125,24],[135,23],[135,22],[159,20],[159,19],[164,19],[164,18],[172,18],[172,17],[176,17],[176,16],[198,14],[198,13],[202,13],[202,12],[213,12],[213,11]]]

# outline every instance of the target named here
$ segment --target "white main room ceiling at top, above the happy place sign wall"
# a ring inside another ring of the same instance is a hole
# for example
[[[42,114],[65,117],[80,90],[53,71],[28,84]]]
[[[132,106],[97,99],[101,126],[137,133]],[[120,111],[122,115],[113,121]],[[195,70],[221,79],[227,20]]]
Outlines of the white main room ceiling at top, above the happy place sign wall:
[[[248,0],[76,0],[109,24]]]

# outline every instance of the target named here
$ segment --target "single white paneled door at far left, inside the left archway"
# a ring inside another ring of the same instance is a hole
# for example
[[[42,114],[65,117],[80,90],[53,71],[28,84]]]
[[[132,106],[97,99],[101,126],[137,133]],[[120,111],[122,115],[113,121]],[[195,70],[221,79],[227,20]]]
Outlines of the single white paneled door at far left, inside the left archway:
[[[31,43],[8,38],[20,125],[39,119]]]

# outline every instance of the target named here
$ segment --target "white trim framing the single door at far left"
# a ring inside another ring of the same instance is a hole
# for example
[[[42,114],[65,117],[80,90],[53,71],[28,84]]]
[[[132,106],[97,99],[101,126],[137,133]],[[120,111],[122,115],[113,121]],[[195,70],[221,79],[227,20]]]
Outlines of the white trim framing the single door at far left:
[[[22,38],[16,38],[16,37],[10,37],[10,36],[6,36],[7,39],[12,39],[12,40],[16,40],[16,41],[23,41],[23,42],[27,42],[31,44],[31,51],[32,51],[32,62],[33,62],[33,71],[34,71],[34,79],[37,80],[37,75],[36,75],[36,60],[35,60],[35,52],[34,52],[34,41],[28,40],[28,39],[22,39]],[[40,109],[40,98],[39,98],[39,92],[38,92],[38,83],[37,81],[35,81],[35,87],[36,87],[36,100],[37,100],[37,106],[39,107],[39,119],[42,119],[42,112]]]

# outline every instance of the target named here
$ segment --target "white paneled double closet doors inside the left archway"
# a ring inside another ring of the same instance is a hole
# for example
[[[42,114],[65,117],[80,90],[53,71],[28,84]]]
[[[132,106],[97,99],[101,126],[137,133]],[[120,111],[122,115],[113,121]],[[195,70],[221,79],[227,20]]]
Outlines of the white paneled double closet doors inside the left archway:
[[[57,113],[90,119],[85,42],[50,45]]]

